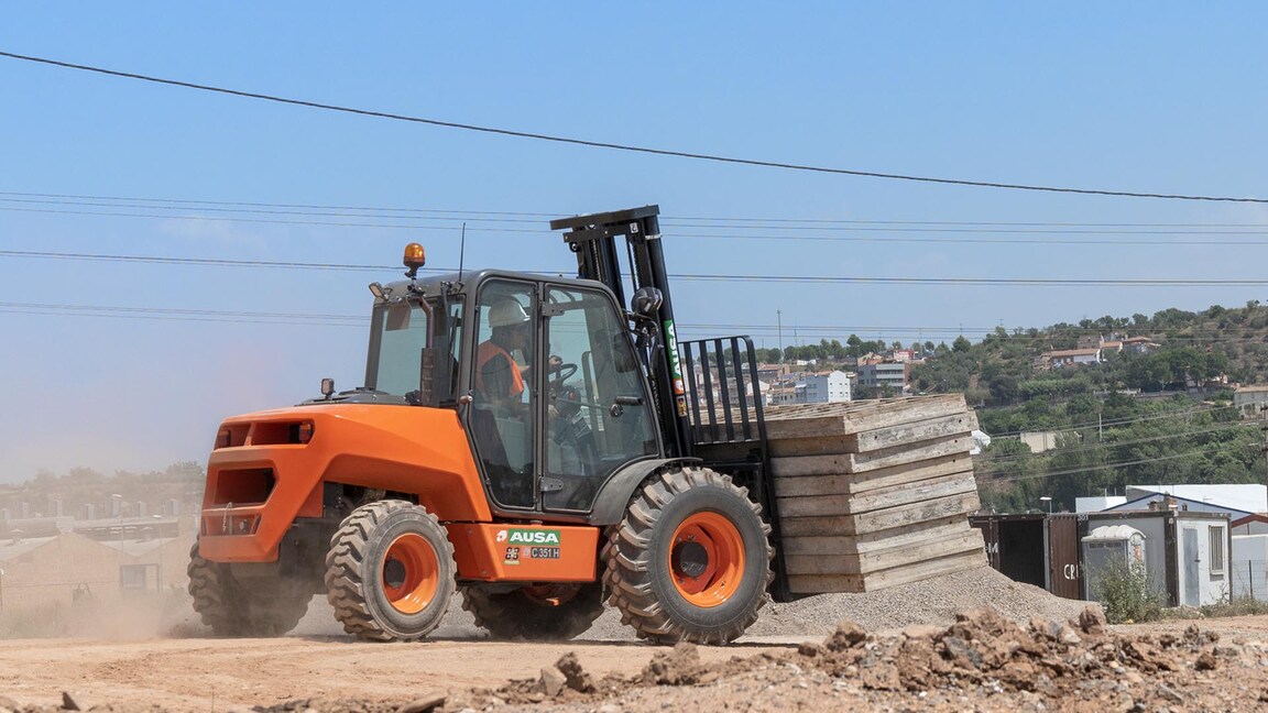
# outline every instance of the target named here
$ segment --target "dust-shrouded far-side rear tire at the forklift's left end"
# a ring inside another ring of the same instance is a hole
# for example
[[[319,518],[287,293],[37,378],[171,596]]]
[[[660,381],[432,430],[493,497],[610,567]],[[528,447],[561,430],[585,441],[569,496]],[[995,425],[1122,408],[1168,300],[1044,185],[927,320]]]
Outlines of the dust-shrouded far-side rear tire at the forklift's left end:
[[[186,571],[194,612],[216,636],[281,636],[304,618],[313,598],[302,582],[280,576],[238,581],[228,565],[199,556],[197,542],[189,551]]]

